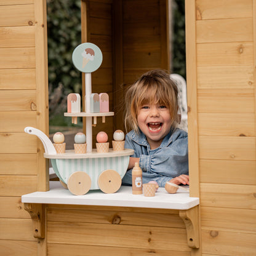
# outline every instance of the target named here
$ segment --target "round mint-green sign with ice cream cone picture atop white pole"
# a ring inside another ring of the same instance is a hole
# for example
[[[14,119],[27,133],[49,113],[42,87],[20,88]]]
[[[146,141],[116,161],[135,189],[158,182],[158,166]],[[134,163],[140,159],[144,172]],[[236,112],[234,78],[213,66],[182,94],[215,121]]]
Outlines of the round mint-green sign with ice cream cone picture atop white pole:
[[[92,73],[102,64],[102,51],[90,42],[79,44],[72,54],[74,66],[83,73]]]

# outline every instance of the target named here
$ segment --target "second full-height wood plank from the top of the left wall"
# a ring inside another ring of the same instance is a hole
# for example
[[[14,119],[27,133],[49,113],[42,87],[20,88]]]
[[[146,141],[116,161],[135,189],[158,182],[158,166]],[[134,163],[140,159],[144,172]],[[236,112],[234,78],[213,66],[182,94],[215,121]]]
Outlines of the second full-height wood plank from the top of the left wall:
[[[0,47],[34,47],[34,26],[0,27]]]

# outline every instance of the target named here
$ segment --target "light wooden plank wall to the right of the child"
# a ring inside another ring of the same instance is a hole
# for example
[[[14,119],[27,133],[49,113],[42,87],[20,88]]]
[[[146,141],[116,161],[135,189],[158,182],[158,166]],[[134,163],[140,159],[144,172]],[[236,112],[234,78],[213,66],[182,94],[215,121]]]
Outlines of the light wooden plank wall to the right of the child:
[[[255,255],[256,1],[186,1],[186,44],[202,255]]]

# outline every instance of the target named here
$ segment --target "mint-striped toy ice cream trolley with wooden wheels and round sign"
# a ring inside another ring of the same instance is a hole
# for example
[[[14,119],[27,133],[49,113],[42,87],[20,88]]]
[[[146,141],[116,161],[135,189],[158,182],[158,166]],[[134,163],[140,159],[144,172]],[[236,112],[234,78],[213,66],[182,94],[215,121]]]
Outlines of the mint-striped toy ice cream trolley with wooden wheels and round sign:
[[[105,122],[106,116],[114,115],[108,110],[108,95],[92,94],[91,73],[101,65],[102,52],[94,44],[80,44],[74,49],[72,60],[74,66],[85,73],[86,111],[80,112],[79,95],[75,94],[68,97],[70,100],[68,112],[64,115],[72,117],[74,123],[79,116],[86,117],[86,153],[78,154],[74,150],[57,153],[54,144],[41,130],[26,127],[25,132],[38,136],[44,145],[44,157],[51,160],[55,174],[71,193],[82,195],[89,190],[98,189],[105,193],[114,193],[121,186],[122,177],[126,174],[129,164],[129,157],[134,154],[134,150],[118,148],[118,150],[100,151],[92,149],[92,126],[97,124],[97,117],[102,118],[102,122]],[[92,124],[92,118],[94,124]],[[97,144],[104,148],[106,142]]]

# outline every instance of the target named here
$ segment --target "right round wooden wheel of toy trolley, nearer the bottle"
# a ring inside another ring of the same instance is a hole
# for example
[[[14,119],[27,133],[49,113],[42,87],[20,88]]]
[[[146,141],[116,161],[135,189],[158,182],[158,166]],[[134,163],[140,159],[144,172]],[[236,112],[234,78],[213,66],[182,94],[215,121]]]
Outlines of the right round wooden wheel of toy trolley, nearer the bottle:
[[[98,176],[98,186],[100,190],[107,194],[118,191],[121,183],[121,176],[115,170],[104,170]]]

